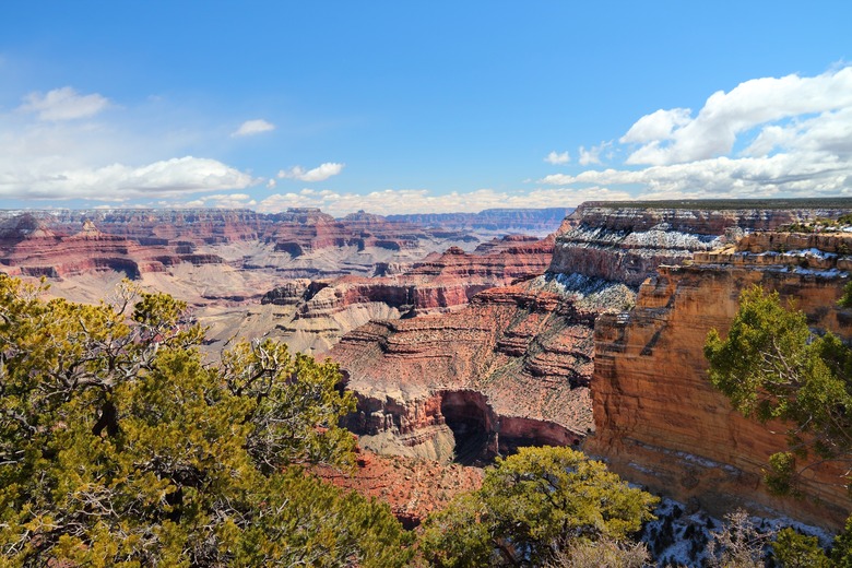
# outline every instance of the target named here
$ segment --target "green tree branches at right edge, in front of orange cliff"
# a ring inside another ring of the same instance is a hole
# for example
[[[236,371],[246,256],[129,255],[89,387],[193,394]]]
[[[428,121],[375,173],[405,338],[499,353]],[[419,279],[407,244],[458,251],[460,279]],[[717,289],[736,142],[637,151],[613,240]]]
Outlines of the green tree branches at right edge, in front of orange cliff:
[[[852,350],[830,333],[812,334],[802,311],[755,286],[722,340],[707,336],[709,377],[733,405],[759,421],[785,421],[789,452],[772,457],[768,486],[794,489],[796,458],[848,459],[852,451]]]

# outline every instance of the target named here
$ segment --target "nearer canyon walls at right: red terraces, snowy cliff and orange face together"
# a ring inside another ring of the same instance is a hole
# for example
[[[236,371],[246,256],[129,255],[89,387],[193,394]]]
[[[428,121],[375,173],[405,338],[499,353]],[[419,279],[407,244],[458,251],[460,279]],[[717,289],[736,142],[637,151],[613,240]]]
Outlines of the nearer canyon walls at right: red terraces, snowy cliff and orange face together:
[[[762,469],[783,436],[730,407],[701,350],[754,282],[808,298],[801,306],[819,315],[815,324],[848,338],[833,308],[848,240],[774,232],[849,206],[676,205],[583,204],[545,274],[449,313],[344,335],[330,355],[358,398],[350,427],[362,445],[461,463],[520,445],[581,446],[626,478],[717,513],[744,506],[840,526],[851,504],[837,468],[803,486],[810,505],[768,495]]]

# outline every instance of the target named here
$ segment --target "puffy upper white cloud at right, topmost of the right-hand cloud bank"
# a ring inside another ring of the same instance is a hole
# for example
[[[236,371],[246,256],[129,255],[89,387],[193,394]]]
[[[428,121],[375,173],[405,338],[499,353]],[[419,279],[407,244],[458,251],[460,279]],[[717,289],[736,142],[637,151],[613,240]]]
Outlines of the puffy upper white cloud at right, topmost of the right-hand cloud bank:
[[[762,127],[757,137],[759,143],[753,149],[759,152],[774,142],[774,122],[850,106],[852,67],[812,78],[755,79],[730,93],[713,93],[695,118],[685,108],[647,115],[620,142],[641,144],[627,158],[628,164],[682,164],[729,154],[739,134]],[[761,139],[764,132],[767,134]]]

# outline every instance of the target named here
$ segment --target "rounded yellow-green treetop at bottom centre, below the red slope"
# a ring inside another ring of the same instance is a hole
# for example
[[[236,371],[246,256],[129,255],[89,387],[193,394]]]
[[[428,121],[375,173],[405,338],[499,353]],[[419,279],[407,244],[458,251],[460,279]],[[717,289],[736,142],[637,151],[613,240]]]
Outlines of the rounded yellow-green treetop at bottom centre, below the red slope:
[[[541,566],[577,540],[624,539],[654,502],[570,448],[522,448],[428,518],[422,548],[436,566]]]

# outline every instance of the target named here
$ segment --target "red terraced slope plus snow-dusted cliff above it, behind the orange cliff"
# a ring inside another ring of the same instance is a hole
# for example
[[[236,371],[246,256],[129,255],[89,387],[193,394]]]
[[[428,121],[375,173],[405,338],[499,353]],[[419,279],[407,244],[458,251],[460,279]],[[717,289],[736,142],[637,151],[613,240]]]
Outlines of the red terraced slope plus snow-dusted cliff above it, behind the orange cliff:
[[[462,428],[483,427],[488,451],[509,451],[512,438],[578,442],[594,427],[585,405],[600,313],[629,309],[661,263],[731,245],[746,232],[838,215],[583,204],[564,221],[544,275],[484,291],[449,313],[374,321],[344,336],[330,355],[359,400],[351,426],[375,436],[367,443],[379,451],[441,454],[452,442],[441,393],[461,389],[483,394],[494,415]],[[481,406],[468,407],[480,416]]]

